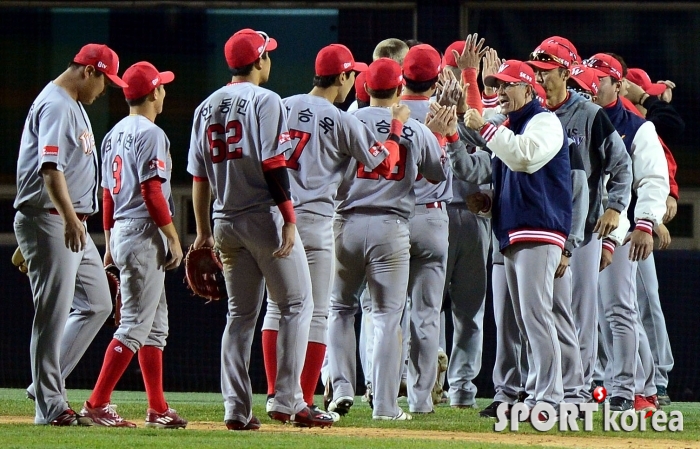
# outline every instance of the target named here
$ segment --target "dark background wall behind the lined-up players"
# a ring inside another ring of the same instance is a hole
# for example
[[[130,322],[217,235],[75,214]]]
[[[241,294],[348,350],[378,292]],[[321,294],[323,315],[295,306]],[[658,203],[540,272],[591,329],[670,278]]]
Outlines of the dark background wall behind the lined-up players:
[[[278,40],[278,49],[271,53],[272,75],[266,87],[282,97],[310,90],[315,55],[332,42],[349,46],[357,60],[366,62],[371,61],[376,43],[385,38],[417,38],[443,51],[467,32],[478,32],[504,58],[526,59],[551,35],[568,37],[584,58],[597,52],[618,53],[630,67],[644,68],[653,81],[676,82],[673,105],[688,128],[684,135],[667,141],[678,160],[681,195],[684,189],[700,184],[694,127],[700,119],[700,63],[696,57],[700,54],[700,4],[695,2],[674,2],[673,7],[666,8],[660,2],[477,1],[465,3],[469,6],[466,9],[458,1],[421,1],[415,9],[412,2],[364,2],[361,6],[344,2],[335,4],[339,9],[313,10],[221,7],[231,2],[199,2],[202,7],[191,7],[186,2],[144,3],[148,6],[93,1],[89,9],[79,2],[0,3],[0,151],[4,152],[0,158],[0,184],[15,183],[21,129],[36,95],[63,71],[82,45],[100,42],[119,54],[120,73],[140,60],[175,72],[176,79],[167,87],[165,111],[158,124],[170,138],[173,182],[187,185],[190,179],[185,166],[193,111],[209,93],[228,81],[223,44],[244,27],[264,30]],[[406,4],[408,8],[404,7]],[[96,140],[101,142],[128,109],[121,92],[110,89],[105,98],[88,107],[88,113]],[[673,226],[669,226],[672,233],[692,237],[692,215],[692,208],[684,207]],[[11,233],[11,201],[0,200],[0,217],[0,233]],[[90,229],[101,232],[99,217],[90,221]],[[0,285],[8,286],[3,298],[5,312],[0,314],[0,386],[25,387],[31,381],[31,291],[25,276],[9,265],[12,250],[9,246],[0,247],[0,261],[8,261],[0,270]],[[669,392],[674,400],[698,400],[696,353],[700,337],[695,330],[700,315],[696,300],[700,253],[659,251],[656,260],[676,359]],[[165,355],[165,388],[219,391],[225,304],[205,306],[203,300],[189,295],[182,279],[182,269],[166,277],[171,335]],[[487,301],[483,367],[475,381],[482,397],[493,394],[495,330],[490,294]],[[69,388],[94,386],[112,332],[110,328],[101,331],[68,379]],[[256,392],[264,392],[259,332],[253,351],[253,387]],[[132,364],[118,388],[143,388],[138,364]],[[362,391],[358,388],[358,393]]]

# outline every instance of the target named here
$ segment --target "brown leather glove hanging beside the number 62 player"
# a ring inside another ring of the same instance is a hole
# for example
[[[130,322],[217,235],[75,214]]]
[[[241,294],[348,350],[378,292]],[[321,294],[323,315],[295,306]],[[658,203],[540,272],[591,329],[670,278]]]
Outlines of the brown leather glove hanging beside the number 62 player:
[[[190,246],[185,256],[185,282],[195,295],[209,301],[226,299],[223,268],[213,248],[193,249]]]

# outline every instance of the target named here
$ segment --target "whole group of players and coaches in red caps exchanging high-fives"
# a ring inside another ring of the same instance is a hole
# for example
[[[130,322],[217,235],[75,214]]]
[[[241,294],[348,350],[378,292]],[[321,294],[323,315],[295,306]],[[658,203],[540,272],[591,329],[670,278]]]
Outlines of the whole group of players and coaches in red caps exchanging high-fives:
[[[645,72],[625,79],[614,55],[582,61],[556,36],[526,62],[502,61],[477,35],[444,56],[411,44],[383,41],[369,66],[343,45],[324,47],[310,93],[284,100],[260,87],[274,38],[244,29],[225,44],[232,78],[194,113],[187,171],[193,247],[215,247],[226,280],[226,427],[261,425],[248,366],[265,292],[271,419],[326,427],[350,411],[360,308],[373,418],[433,413],[445,295],[454,324],[447,396],[453,407],[475,407],[492,240],[496,397],[481,414],[495,417],[498,405],[519,399],[530,407],[589,401],[598,359],[606,363],[596,380],[614,410],[658,407],[673,362],[649,256],[653,232],[670,241],[663,223],[675,215],[677,187],[670,190],[675,163],[652,123],[682,127],[658,98],[672,83],[657,92]],[[164,273],[183,253],[169,141],[154,122],[174,75],[147,62],[117,72],[114,51],[86,45],[25,123],[15,232],[35,305],[27,391],[37,424],[135,427],[111,393],[138,352],[146,426],[185,427],[162,387]],[[130,113],[105,136],[100,170],[82,105],[108,84],[124,90]],[[356,110],[344,112],[334,103],[353,86]],[[85,227],[100,175],[102,260]],[[65,379],[111,311],[109,263],[121,272],[121,324],[76,413]],[[325,412],[314,404],[322,372]],[[402,379],[410,413],[398,406]]]

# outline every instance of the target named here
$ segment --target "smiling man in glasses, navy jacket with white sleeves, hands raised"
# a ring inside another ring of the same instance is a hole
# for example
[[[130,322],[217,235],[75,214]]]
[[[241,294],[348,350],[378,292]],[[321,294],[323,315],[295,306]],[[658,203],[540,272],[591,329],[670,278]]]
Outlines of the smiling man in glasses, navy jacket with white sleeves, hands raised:
[[[496,127],[475,110],[465,115],[467,126],[480,131],[496,156],[493,200],[480,196],[478,209],[492,210],[515,319],[533,347],[528,362],[534,394],[528,405],[546,402],[557,408],[564,392],[552,296],[571,228],[568,145],[559,121],[537,101],[535,74],[527,64],[506,61],[485,82],[497,88],[508,125]],[[531,200],[523,203],[525,198]]]

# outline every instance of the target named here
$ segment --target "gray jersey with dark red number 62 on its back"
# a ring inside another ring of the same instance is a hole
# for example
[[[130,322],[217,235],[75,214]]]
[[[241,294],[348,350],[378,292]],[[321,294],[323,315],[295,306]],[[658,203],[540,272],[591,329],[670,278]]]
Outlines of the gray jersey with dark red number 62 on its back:
[[[249,82],[233,83],[197,107],[187,170],[215,192],[214,218],[274,206],[262,162],[290,148],[282,100]]]

